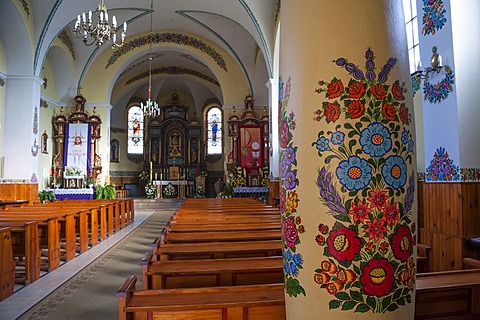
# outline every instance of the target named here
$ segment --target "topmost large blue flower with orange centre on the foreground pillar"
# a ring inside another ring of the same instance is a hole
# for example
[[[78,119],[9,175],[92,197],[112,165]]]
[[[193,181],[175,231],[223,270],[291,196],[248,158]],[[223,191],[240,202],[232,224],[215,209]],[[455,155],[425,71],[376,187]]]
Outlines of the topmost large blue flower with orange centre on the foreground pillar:
[[[392,148],[390,131],[383,124],[373,122],[360,133],[360,145],[366,154],[382,157]]]

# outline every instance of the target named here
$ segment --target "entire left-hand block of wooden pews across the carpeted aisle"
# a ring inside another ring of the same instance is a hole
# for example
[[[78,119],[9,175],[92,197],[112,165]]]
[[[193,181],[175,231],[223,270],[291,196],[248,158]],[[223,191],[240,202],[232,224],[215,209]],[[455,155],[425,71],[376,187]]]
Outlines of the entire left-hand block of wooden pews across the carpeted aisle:
[[[132,199],[61,200],[0,210],[0,301],[131,224]]]

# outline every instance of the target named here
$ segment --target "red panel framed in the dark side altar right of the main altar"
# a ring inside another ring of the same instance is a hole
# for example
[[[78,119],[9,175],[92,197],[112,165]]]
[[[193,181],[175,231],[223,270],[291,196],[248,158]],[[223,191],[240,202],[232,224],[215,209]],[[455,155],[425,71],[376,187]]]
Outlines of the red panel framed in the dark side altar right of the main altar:
[[[240,165],[243,168],[261,168],[263,164],[262,126],[242,125],[240,128]]]

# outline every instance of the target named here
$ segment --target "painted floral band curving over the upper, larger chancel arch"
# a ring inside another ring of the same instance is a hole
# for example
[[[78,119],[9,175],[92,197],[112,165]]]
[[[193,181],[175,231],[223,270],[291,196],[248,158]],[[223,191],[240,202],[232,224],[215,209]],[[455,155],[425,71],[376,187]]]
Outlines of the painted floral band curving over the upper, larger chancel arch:
[[[220,68],[222,68],[225,71],[228,71],[227,64],[225,63],[225,60],[223,59],[222,55],[219,54],[214,48],[212,48],[211,46],[205,44],[203,41],[198,40],[197,38],[194,38],[192,36],[187,36],[181,33],[171,33],[171,32],[153,33],[147,36],[138,37],[131,41],[128,41],[122,47],[120,47],[119,49],[116,49],[112,53],[112,55],[108,59],[108,63],[105,66],[105,69],[107,69],[109,66],[114,64],[118,60],[118,58],[126,54],[128,51],[138,47],[149,45],[150,43],[176,43],[178,45],[193,47],[209,55],[217,63],[217,65],[220,66]]]

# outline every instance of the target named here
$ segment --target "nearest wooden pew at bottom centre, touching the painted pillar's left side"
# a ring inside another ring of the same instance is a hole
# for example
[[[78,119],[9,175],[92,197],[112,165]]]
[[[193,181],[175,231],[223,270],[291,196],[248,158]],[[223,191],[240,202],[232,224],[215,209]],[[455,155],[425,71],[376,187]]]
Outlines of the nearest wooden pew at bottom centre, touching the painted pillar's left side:
[[[283,320],[283,284],[136,290],[136,277],[118,289],[120,320]]]

